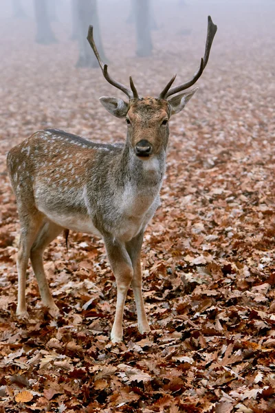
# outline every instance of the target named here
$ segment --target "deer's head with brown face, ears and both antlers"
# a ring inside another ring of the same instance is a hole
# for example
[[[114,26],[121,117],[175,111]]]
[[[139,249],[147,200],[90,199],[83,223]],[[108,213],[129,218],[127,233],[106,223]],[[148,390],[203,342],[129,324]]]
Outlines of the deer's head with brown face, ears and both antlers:
[[[171,87],[176,78],[176,75],[174,75],[157,98],[150,96],[142,98],[138,95],[131,76],[131,89],[111,78],[108,73],[108,66],[103,65],[98,50],[96,49],[93,26],[89,26],[87,39],[98,59],[104,78],[111,83],[111,85],[122,90],[122,92],[129,98],[129,101],[125,102],[120,98],[104,96],[100,98],[100,102],[110,114],[126,120],[128,127],[127,139],[129,140],[129,144],[135,155],[140,159],[146,160],[166,149],[169,135],[168,121],[170,116],[181,112],[186,103],[192,98],[193,94],[197,92],[198,88],[191,89],[184,93],[179,92],[194,85],[203,73],[203,70],[208,63],[212,41],[216,32],[217,25],[214,25],[211,17],[208,16],[206,50],[203,59],[201,59],[199,70],[190,81],[179,86]],[[170,96],[174,94],[177,95],[170,98]]]

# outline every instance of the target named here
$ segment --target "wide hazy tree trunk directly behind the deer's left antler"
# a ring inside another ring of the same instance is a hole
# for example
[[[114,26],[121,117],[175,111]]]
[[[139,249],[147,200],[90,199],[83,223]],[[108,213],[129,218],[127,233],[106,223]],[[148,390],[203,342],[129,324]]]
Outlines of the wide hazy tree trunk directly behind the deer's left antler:
[[[87,41],[87,33],[90,24],[94,26],[94,39],[100,57],[104,63],[107,63],[100,36],[97,1],[77,0],[79,58],[76,66],[78,67],[98,67],[96,56],[94,55],[94,52],[93,50],[91,50],[91,46]]]

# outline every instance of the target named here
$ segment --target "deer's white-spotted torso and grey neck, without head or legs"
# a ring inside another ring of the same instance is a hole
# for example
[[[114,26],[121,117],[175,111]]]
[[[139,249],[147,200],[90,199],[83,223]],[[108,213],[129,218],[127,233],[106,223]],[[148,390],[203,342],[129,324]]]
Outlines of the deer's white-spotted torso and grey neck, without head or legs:
[[[165,152],[143,162],[127,145],[48,129],[14,147],[8,164],[19,210],[28,203],[65,229],[128,242],[157,209]]]

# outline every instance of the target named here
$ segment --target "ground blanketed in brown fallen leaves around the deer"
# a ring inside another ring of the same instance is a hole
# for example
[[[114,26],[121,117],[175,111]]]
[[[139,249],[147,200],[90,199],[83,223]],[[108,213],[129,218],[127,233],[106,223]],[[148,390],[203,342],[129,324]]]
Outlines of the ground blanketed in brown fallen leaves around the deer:
[[[77,46],[64,26],[54,26],[59,43],[43,47],[33,43],[31,21],[1,25],[9,40],[0,62],[0,412],[275,412],[274,5],[267,6],[212,6],[217,39],[199,92],[170,120],[162,207],[144,240],[152,331],[137,332],[129,291],[119,345],[109,341],[115,280],[102,241],[90,235],[72,233],[68,252],[58,237],[45,252],[62,316],[41,306],[29,268],[30,319],[15,317],[19,222],[7,151],[43,127],[102,142],[122,141],[126,127],[98,103],[119,95],[100,71],[74,67]],[[153,95],[174,72],[186,80],[203,53],[209,11],[190,6],[188,20],[168,10],[153,34],[154,56],[144,60],[134,56],[126,11],[119,31],[105,19],[112,74],[125,83],[132,74],[140,92]]]

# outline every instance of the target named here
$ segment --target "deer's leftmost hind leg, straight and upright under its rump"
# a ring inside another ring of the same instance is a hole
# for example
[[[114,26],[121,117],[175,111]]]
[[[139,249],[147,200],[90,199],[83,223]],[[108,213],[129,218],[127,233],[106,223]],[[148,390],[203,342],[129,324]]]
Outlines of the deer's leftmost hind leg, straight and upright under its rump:
[[[19,249],[17,253],[17,273],[18,273],[18,303],[17,315],[24,317],[28,315],[25,301],[26,271],[30,258],[30,250],[36,239],[37,233],[43,224],[43,215],[40,213],[23,214],[19,211],[21,222],[21,234]]]

